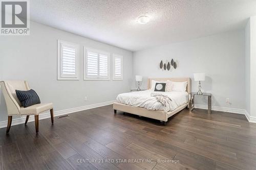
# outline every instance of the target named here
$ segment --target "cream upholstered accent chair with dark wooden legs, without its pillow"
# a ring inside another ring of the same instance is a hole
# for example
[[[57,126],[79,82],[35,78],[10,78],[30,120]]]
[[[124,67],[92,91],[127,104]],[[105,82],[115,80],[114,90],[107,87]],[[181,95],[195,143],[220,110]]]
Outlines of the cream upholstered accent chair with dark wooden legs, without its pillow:
[[[12,124],[12,116],[14,115],[27,115],[25,125],[28,123],[28,119],[30,115],[35,116],[35,131],[38,133],[38,125],[39,125],[39,114],[50,110],[51,120],[53,124],[53,104],[45,103],[45,104],[36,104],[29,107],[24,108],[22,104],[19,102],[16,91],[15,90],[30,90],[27,81],[1,81],[0,82],[6,106],[8,111],[8,124],[6,133],[9,133],[11,124]]]

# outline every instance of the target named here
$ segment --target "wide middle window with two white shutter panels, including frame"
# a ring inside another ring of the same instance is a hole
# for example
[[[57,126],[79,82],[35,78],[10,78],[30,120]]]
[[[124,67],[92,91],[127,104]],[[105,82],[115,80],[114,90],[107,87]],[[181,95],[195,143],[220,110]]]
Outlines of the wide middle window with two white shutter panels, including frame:
[[[110,80],[110,54],[84,48],[84,80]]]

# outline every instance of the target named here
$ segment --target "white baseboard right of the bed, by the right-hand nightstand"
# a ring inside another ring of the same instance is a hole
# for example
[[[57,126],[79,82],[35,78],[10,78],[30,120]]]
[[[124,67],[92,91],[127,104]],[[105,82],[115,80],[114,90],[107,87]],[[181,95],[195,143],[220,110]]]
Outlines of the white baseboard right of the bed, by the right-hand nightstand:
[[[208,109],[208,106],[195,104],[195,108]],[[245,117],[247,118],[248,122],[256,123],[256,117],[250,116],[249,113],[245,109],[235,109],[235,108],[228,108],[228,107],[212,106],[211,110],[228,112],[228,113],[244,114]]]

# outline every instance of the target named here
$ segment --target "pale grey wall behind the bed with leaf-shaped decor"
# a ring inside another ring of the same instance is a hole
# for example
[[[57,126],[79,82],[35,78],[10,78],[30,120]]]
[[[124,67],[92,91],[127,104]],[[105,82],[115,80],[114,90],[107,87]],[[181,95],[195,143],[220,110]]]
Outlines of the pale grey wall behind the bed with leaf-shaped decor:
[[[144,76],[145,88],[148,77],[193,78],[193,73],[205,72],[202,89],[212,93],[212,106],[245,109],[244,46],[244,30],[238,30],[135,52],[134,75]],[[159,68],[161,60],[172,58],[179,62],[176,70]],[[192,89],[198,90],[193,79]],[[196,98],[196,104],[207,105],[207,100]]]

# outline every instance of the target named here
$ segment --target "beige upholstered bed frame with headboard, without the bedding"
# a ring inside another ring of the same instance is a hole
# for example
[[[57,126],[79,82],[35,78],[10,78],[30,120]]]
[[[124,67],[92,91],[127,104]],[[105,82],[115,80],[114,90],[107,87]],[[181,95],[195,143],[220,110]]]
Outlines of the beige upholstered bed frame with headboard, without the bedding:
[[[188,93],[190,93],[190,91],[191,91],[191,79],[190,78],[155,78],[155,79],[150,78],[150,79],[147,80],[147,89],[151,88],[151,81],[152,80],[155,80],[155,81],[170,80],[170,81],[173,81],[173,82],[185,82],[185,81],[187,81],[186,91]],[[119,111],[123,111],[123,112],[127,112],[127,113],[136,114],[136,115],[139,115],[139,116],[154,118],[154,119],[160,120],[161,122],[164,122],[164,125],[165,125],[170,116],[172,116],[172,115],[178,113],[179,111],[183,110],[184,108],[186,108],[187,105],[188,105],[188,103],[185,103],[184,105],[178,107],[177,109],[175,109],[173,111],[166,112],[166,111],[161,111],[161,110],[147,110],[147,109],[142,108],[142,107],[134,107],[134,106],[114,102],[113,109],[114,109],[115,114],[116,114],[116,111],[119,110]]]

